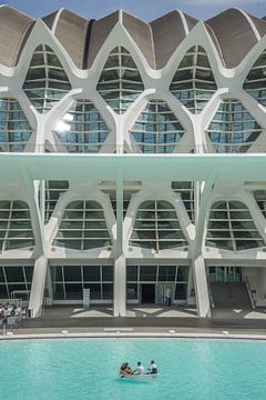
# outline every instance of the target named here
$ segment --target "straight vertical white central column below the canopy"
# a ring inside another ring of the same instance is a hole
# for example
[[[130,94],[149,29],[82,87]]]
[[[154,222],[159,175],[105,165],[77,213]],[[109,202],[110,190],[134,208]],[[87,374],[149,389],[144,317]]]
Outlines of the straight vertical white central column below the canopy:
[[[114,317],[126,313],[126,262],[123,252],[123,174],[116,172],[116,242],[114,249]]]

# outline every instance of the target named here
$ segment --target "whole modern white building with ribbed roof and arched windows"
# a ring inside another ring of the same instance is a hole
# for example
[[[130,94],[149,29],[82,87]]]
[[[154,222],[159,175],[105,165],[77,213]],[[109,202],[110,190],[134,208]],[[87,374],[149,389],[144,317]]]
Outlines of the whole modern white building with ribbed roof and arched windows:
[[[266,20],[0,8],[0,301],[266,306]]]

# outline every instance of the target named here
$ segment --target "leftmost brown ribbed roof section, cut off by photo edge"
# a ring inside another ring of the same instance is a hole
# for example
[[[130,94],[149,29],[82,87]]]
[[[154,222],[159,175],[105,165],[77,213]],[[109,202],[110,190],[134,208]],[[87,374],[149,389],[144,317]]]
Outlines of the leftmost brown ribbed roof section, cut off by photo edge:
[[[0,63],[14,67],[19,61],[34,19],[9,6],[0,7]]]

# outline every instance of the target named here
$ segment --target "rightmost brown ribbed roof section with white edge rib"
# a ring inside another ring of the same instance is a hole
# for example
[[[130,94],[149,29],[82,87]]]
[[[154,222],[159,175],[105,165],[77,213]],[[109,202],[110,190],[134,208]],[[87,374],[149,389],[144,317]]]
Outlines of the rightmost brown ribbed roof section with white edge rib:
[[[263,19],[229,9],[205,22],[227,68],[236,67],[266,33]]]

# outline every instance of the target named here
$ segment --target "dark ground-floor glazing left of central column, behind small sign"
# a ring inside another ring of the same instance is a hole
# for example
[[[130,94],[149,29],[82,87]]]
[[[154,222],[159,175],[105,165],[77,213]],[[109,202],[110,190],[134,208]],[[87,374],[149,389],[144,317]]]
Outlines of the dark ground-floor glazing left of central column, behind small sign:
[[[112,266],[52,266],[54,300],[80,300],[83,289],[90,289],[90,300],[113,301]]]

